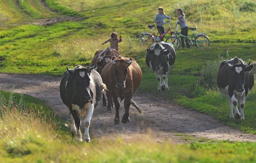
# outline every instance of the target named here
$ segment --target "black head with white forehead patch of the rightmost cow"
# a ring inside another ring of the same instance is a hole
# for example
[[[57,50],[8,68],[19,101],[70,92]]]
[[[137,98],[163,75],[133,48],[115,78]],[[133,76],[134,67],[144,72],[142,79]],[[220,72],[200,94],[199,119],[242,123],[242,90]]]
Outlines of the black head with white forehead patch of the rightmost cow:
[[[247,71],[251,71],[254,67],[253,64],[248,63],[248,65],[244,64],[229,64],[229,69],[231,69],[231,81],[235,82],[236,91],[243,92],[244,91],[244,82],[245,82],[245,73]]]

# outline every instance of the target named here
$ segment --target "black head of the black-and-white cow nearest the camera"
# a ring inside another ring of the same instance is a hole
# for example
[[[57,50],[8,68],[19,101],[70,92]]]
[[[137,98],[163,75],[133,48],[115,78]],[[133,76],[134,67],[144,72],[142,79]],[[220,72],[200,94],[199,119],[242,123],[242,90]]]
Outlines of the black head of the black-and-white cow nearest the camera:
[[[81,69],[70,69],[67,68],[68,74],[71,76],[72,82],[72,92],[73,92],[73,100],[74,104],[77,104],[80,108],[84,106],[84,104],[91,102],[93,94],[90,93],[90,74],[94,67],[82,67]]]

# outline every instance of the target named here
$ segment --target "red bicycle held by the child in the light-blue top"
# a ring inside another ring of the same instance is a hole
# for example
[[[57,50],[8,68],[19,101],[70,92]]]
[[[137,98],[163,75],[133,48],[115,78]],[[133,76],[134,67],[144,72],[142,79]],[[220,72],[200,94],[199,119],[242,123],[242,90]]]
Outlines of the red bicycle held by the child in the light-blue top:
[[[171,18],[172,19],[172,18]],[[159,33],[157,33],[157,35],[155,34],[155,30],[154,30],[154,26],[155,25],[148,25],[148,28],[149,29],[152,29],[153,33],[145,33],[143,32],[139,38],[139,42],[140,44],[153,44],[154,41],[155,42],[161,42],[162,38],[168,34],[168,32],[170,33],[171,36],[176,36],[175,34],[175,31],[172,31],[171,30],[171,27],[170,27],[170,23],[171,23],[171,19],[169,19],[169,22],[165,22],[164,20],[161,20],[164,22],[164,24],[168,25],[168,29],[167,31],[165,31],[164,34],[161,34],[160,36],[158,36]]]

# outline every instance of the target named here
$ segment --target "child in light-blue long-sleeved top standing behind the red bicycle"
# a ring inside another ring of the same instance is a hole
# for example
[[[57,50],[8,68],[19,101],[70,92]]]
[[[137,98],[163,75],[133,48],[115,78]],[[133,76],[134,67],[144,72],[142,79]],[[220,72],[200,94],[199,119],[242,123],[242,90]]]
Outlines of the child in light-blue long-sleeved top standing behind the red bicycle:
[[[158,14],[155,16],[154,22],[156,23],[157,30],[160,34],[164,34],[164,19],[171,19],[170,17],[166,16],[166,14],[163,11],[163,7],[158,8]],[[164,38],[164,36],[163,36]],[[161,38],[163,41],[163,38]]]

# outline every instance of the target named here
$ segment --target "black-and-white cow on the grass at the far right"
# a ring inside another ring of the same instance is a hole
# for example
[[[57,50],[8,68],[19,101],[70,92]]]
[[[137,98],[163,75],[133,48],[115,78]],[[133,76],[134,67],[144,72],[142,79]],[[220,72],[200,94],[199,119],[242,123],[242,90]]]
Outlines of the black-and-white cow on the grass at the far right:
[[[234,118],[233,107],[236,107],[236,116],[244,119],[243,108],[245,98],[254,84],[253,69],[254,64],[245,64],[241,59],[232,58],[229,61],[223,61],[217,75],[217,84],[221,91],[229,99],[230,115]],[[240,108],[241,113],[237,108]]]

